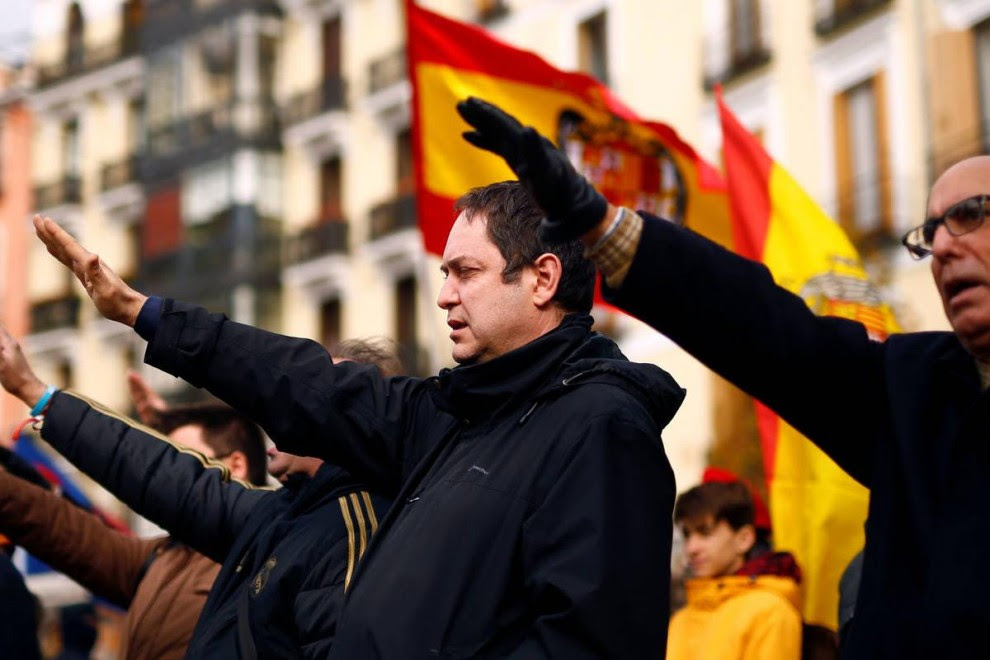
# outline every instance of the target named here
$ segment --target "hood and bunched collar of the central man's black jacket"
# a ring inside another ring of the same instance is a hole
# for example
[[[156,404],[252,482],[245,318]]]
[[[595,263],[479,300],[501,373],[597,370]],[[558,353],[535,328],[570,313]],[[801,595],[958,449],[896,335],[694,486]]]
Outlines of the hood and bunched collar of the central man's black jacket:
[[[529,412],[520,422],[525,422],[542,401],[607,382],[630,392],[660,428],[666,426],[684,390],[659,367],[630,362],[615,342],[591,331],[592,322],[588,314],[569,314],[554,330],[494,360],[444,369],[430,379],[437,406],[476,418],[524,405]]]

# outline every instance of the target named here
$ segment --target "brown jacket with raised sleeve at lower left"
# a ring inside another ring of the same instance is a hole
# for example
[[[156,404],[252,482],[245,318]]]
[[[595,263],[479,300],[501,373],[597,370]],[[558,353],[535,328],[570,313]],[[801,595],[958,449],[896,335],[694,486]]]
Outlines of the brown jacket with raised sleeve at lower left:
[[[220,570],[219,564],[167,536],[122,534],[4,470],[0,532],[94,594],[127,608],[122,658],[184,657]]]

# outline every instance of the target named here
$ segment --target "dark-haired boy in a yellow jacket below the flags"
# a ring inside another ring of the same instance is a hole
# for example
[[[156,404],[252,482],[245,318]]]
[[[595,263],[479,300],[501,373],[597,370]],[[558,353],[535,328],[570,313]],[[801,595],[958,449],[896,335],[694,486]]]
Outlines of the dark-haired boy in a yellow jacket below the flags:
[[[787,553],[756,554],[753,499],[742,483],[682,493],[674,523],[692,578],[670,620],[670,660],[801,657],[800,572]]]

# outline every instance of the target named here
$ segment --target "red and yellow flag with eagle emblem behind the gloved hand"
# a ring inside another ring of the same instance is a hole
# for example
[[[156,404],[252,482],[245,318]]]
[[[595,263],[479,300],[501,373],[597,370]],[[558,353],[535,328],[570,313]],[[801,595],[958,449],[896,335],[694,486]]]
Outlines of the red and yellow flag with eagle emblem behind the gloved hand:
[[[563,148],[609,201],[653,212],[728,244],[724,182],[677,133],[643,121],[583,73],[560,71],[481,28],[406,2],[413,155],[426,250],[443,252],[454,201],[515,175],[461,138],[458,101],[478,96]]]

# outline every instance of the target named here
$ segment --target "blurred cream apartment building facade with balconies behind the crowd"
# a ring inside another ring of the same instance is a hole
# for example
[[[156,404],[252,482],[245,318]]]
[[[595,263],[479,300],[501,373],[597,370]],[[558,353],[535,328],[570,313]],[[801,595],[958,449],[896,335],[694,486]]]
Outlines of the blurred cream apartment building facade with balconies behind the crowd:
[[[715,163],[720,83],[862,247],[903,325],[945,327],[927,265],[896,239],[932,177],[988,147],[990,0],[422,4],[588,71]],[[449,364],[416,229],[401,0],[37,0],[34,26],[39,211],[148,292],[328,346],[390,336],[415,373]],[[126,409],[141,342],[30,256],[39,370]],[[753,437],[731,388],[632,319],[598,317],[689,390],[665,433],[680,484],[709,448]]]

